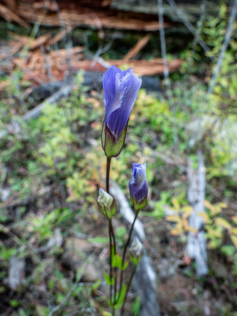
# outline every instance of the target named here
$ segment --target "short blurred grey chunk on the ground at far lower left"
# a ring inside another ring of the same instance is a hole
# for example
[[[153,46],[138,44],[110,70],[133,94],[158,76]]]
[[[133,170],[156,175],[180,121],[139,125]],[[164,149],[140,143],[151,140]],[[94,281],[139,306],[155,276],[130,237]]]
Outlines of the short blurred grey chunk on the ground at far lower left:
[[[9,263],[8,285],[16,291],[25,279],[26,262],[23,258],[12,257]]]

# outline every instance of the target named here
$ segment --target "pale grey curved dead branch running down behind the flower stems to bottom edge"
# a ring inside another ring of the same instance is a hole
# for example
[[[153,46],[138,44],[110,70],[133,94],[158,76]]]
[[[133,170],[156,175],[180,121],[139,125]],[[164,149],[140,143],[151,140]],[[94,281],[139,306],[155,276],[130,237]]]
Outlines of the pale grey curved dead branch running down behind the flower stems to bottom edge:
[[[110,192],[115,197],[118,210],[122,216],[132,224],[134,213],[129,207],[126,197],[119,186],[112,182]],[[146,240],[144,226],[140,220],[136,220],[133,235],[137,235],[141,242]],[[133,277],[132,288],[141,295],[141,309],[139,316],[160,316],[158,297],[156,293],[156,273],[151,263],[151,259],[145,252],[142,260],[137,266],[136,273]],[[138,293],[137,293],[138,294]]]

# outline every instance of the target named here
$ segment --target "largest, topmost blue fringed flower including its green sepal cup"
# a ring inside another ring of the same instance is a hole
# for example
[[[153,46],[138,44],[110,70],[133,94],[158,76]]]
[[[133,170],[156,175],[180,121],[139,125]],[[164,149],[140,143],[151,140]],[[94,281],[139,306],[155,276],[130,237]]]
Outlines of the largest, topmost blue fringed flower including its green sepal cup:
[[[115,65],[103,76],[105,120],[102,130],[102,147],[107,157],[117,157],[123,147],[128,118],[142,79],[133,74],[132,68],[125,71]]]

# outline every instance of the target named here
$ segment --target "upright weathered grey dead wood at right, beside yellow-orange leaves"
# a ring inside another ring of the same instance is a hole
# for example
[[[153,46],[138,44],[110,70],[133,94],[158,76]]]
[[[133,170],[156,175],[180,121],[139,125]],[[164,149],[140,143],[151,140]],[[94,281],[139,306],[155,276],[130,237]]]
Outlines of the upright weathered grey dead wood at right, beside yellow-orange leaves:
[[[204,220],[198,213],[205,212],[203,200],[205,199],[205,165],[201,152],[198,152],[198,168],[194,172],[191,163],[188,168],[190,187],[188,200],[193,207],[189,218],[190,227],[196,229],[197,233],[189,232],[186,245],[190,258],[195,259],[197,276],[208,274],[206,237],[203,230]]]

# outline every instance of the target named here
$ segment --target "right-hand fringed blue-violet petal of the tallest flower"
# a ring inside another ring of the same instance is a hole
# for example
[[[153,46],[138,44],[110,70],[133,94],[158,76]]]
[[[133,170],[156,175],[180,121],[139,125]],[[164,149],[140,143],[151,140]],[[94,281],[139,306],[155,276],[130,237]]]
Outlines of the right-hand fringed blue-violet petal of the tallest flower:
[[[133,74],[132,69],[129,69],[126,71],[126,76],[122,78],[122,82],[124,87],[126,87],[124,101],[117,110],[111,113],[107,121],[108,127],[116,137],[121,134],[126,126],[131,109],[141,87],[142,79],[136,74]]]

